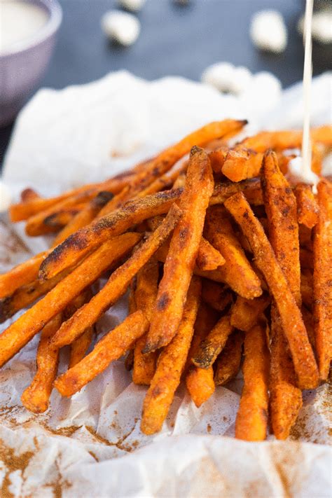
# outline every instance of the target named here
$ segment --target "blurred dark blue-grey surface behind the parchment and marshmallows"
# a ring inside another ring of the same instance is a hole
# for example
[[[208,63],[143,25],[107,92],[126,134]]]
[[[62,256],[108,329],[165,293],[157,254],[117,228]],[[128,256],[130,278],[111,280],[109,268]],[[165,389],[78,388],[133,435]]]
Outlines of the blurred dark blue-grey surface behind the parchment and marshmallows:
[[[57,48],[40,86],[63,88],[86,83],[109,71],[128,69],[154,79],[181,75],[195,80],[217,61],[272,71],[288,86],[302,78],[303,45],[296,23],[304,0],[148,0],[138,13],[141,35],[134,46],[109,43],[100,29],[102,14],[116,0],[60,0],[64,19]],[[282,55],[260,53],[249,39],[251,15],[277,8],[286,20],[289,43]],[[314,47],[314,74],[327,69],[328,49]],[[12,127],[0,130],[0,160]]]

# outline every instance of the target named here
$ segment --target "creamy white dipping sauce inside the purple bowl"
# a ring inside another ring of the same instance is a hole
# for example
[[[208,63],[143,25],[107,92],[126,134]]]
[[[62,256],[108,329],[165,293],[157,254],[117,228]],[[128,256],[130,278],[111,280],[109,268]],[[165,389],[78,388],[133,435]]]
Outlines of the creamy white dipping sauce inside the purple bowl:
[[[48,17],[46,9],[27,1],[0,0],[0,53],[29,40]]]

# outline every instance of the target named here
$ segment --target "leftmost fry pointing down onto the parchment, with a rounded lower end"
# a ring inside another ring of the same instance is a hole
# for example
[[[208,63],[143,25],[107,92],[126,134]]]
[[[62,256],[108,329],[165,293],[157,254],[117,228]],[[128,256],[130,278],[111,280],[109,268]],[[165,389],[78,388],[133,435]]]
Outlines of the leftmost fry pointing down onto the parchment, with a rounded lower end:
[[[60,312],[44,326],[36,355],[36,375],[21,396],[25,408],[34,413],[43,413],[48,409],[59,362],[59,352],[50,346],[50,338],[60,327],[61,322],[62,313]]]

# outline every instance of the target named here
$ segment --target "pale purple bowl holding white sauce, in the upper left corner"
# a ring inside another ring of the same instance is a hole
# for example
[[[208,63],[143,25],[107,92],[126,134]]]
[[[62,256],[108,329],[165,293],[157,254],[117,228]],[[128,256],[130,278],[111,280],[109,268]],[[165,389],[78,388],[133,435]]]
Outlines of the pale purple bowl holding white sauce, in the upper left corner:
[[[0,126],[13,121],[46,71],[62,20],[57,0],[25,1],[43,8],[48,20],[36,34],[0,53]]]

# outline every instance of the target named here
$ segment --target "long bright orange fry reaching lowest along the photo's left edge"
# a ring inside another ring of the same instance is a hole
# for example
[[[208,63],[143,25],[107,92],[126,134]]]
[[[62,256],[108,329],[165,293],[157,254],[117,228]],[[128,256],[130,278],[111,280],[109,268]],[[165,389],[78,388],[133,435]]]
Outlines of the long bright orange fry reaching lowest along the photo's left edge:
[[[64,310],[64,307],[83,289],[95,282],[107,268],[130,251],[139,238],[140,235],[137,233],[125,233],[105,242],[67,277],[64,277],[43,299],[2,332],[0,334],[0,366],[4,365],[36,333],[41,331],[50,319]]]

